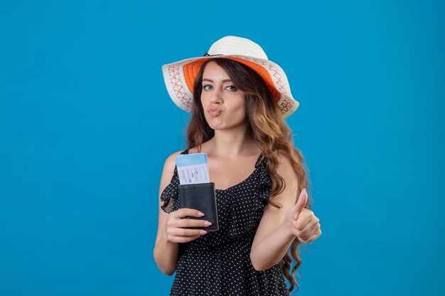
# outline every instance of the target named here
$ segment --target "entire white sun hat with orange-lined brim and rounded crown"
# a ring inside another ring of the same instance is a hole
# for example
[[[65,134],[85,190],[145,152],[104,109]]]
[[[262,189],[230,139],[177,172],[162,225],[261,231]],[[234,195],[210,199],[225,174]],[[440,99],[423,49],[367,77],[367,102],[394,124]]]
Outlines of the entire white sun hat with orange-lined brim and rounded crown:
[[[246,38],[225,36],[213,43],[202,57],[162,66],[168,94],[179,108],[191,111],[193,82],[201,65],[209,58],[220,57],[240,62],[257,72],[277,100],[284,118],[293,114],[299,107],[299,102],[292,97],[286,74],[279,65],[267,59],[266,53],[257,43]]]

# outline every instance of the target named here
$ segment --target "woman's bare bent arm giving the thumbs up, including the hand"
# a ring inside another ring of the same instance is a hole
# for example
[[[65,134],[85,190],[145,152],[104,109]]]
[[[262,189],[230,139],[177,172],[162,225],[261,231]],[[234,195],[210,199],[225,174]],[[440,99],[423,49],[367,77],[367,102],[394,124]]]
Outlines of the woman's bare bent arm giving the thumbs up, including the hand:
[[[300,241],[309,238],[315,240],[319,236],[318,218],[309,209],[302,209],[307,201],[307,195],[304,196],[305,191],[301,193],[299,197],[301,200],[296,204],[298,192],[296,173],[289,157],[282,153],[279,154],[277,173],[284,178],[286,188],[273,200],[281,204],[282,208],[278,209],[268,204],[264,209],[250,251],[250,260],[255,270],[266,270],[279,263],[297,235]],[[319,233],[321,234],[321,231]]]

